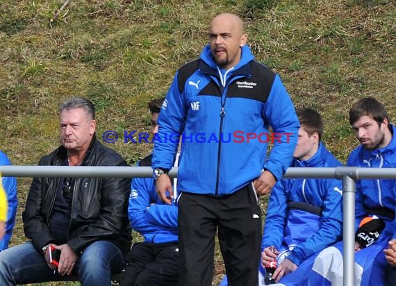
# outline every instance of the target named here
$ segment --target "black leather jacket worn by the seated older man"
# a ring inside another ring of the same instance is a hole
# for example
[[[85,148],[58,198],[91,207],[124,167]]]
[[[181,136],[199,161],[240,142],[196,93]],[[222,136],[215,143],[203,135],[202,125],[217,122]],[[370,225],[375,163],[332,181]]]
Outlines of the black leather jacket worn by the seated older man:
[[[41,158],[39,165],[61,166],[67,156],[63,146]],[[82,162],[83,166],[126,166],[117,152],[93,139]],[[49,218],[59,180],[33,178],[26,207],[22,213],[26,237],[35,249],[55,243],[49,230]],[[125,253],[131,247],[128,219],[129,178],[76,178],[67,244],[79,255],[97,240],[107,240]]]

